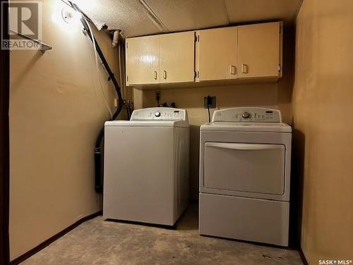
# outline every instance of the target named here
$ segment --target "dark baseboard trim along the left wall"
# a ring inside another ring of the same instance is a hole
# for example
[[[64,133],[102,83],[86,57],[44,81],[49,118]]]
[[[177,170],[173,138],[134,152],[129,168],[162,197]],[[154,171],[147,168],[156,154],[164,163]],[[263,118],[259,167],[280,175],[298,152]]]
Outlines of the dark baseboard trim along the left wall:
[[[34,247],[33,249],[30,249],[28,252],[25,252],[25,254],[20,255],[20,257],[13,259],[13,261],[10,262],[10,265],[17,265],[20,264],[21,262],[25,261],[32,255],[36,254],[37,252],[40,252],[40,250],[44,249],[44,247],[49,246],[54,242],[55,240],[58,240],[61,238],[63,235],[66,235],[68,232],[73,230],[73,228],[76,228],[80,226],[81,223],[84,223],[85,221],[88,221],[92,218],[95,218],[97,216],[102,215],[102,211],[97,211],[95,214],[90,214],[89,216],[85,216],[83,218],[80,218],[80,220],[76,221],[76,223],[73,223],[71,226],[68,226],[64,230],[60,231],[56,235],[53,235],[51,238],[48,238],[44,242],[40,243],[40,245],[37,245],[37,247]]]

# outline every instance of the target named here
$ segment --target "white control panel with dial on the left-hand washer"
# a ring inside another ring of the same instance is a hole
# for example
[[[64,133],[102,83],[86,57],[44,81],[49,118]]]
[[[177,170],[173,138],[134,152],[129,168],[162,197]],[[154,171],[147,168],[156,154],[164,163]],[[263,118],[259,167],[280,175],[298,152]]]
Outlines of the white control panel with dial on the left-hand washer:
[[[148,108],[136,109],[130,121],[186,121],[185,109]]]

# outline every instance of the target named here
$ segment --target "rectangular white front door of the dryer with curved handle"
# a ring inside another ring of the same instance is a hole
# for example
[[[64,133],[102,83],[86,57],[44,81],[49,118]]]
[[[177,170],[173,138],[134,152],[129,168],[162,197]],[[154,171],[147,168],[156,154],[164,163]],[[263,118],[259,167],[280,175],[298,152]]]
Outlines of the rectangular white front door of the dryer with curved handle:
[[[285,146],[205,142],[204,185],[217,190],[283,195]]]

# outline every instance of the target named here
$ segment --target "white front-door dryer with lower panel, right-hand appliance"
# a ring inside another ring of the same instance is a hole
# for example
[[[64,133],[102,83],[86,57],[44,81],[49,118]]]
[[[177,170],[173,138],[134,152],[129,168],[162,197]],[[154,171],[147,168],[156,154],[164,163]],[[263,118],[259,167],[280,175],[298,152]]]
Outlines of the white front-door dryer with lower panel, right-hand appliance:
[[[288,245],[291,141],[275,109],[221,109],[201,125],[201,235]]]

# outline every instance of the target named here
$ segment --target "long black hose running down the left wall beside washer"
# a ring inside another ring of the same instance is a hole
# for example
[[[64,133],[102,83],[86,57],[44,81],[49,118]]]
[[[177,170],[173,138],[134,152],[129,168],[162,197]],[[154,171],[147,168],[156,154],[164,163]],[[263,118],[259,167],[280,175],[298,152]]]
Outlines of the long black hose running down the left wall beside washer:
[[[109,75],[108,81],[111,80],[114,85],[116,94],[118,96],[118,107],[116,108],[116,111],[114,112],[112,119],[111,119],[111,121],[114,121],[119,116],[121,109],[124,105],[124,101],[123,101],[123,97],[121,95],[121,90],[120,90],[119,84],[116,81],[114,73],[110,69],[107,60],[105,59],[102,50],[100,49],[100,45],[98,44],[97,40],[93,36],[93,33],[90,32],[90,27],[84,17],[85,14],[80,10],[80,8],[78,8],[78,6],[76,4],[73,4],[71,1],[68,1],[68,3],[71,4],[72,8],[75,11],[78,11],[82,15],[82,17],[80,18],[80,21],[83,25],[83,28],[88,33],[88,37],[90,37],[90,40],[92,42],[94,40],[95,49],[97,51],[97,54],[100,56],[100,59],[102,60],[104,68],[107,70],[107,73]],[[101,145],[103,137],[104,137],[104,126],[100,130],[100,133],[98,134],[97,140],[95,142],[95,191],[96,192],[102,192],[102,185],[103,185],[103,181],[102,181],[102,152],[100,149],[100,145]]]

